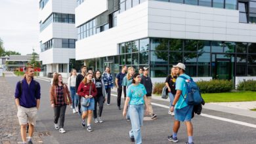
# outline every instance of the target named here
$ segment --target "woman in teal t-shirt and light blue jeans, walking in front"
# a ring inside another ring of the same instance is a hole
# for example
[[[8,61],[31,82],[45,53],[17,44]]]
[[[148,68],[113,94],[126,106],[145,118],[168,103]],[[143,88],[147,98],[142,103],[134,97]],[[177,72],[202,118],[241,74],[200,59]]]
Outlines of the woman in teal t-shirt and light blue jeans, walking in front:
[[[135,143],[142,143],[140,127],[142,126],[144,116],[144,103],[146,103],[146,88],[140,84],[141,77],[139,73],[133,75],[133,84],[127,89],[127,98],[123,109],[123,117],[126,116],[127,106],[129,104],[129,116],[131,118],[131,130],[129,137]],[[148,105],[146,104],[146,112]]]

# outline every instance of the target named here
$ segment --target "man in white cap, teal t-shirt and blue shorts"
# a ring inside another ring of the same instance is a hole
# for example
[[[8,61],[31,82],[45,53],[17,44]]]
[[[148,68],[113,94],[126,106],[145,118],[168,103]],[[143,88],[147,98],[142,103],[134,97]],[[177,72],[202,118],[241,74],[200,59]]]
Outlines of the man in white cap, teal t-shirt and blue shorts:
[[[190,77],[185,74],[186,66],[183,63],[178,63],[177,65],[173,65],[173,67],[175,68],[175,73],[177,75],[182,75],[183,77],[186,77],[186,79],[190,79]],[[184,97],[186,98],[186,80],[178,77],[175,89],[177,90],[177,93],[170,108],[171,112],[175,111],[175,122],[173,124],[173,135],[168,136],[168,140],[175,143],[179,141],[177,138],[177,133],[180,127],[180,123],[185,122],[186,130],[188,133],[188,142],[186,143],[194,144],[193,126],[191,122],[193,105],[188,105],[184,99]]]

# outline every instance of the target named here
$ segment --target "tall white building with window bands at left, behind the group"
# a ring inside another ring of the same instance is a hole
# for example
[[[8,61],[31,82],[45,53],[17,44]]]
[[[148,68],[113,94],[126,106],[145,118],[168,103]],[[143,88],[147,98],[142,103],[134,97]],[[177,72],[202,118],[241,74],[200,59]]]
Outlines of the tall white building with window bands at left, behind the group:
[[[76,0],[39,0],[39,59],[45,76],[56,71],[68,77],[77,41],[75,7]]]

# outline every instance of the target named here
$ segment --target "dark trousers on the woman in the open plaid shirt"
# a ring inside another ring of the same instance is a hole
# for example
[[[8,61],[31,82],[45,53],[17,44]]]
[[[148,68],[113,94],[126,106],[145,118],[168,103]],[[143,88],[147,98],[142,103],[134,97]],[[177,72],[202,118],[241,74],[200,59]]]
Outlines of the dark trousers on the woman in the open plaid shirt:
[[[61,107],[54,107],[54,124],[58,124],[58,118],[60,118],[60,128],[64,127],[65,113],[67,105],[62,105]]]

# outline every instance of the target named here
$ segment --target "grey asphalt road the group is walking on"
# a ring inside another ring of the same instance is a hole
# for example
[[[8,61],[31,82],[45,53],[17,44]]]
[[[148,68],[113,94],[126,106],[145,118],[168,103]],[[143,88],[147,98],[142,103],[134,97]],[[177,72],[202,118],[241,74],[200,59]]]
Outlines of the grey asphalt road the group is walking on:
[[[11,85],[13,92],[14,86],[20,77],[10,77],[6,75],[6,79]],[[112,96],[111,105],[104,104],[101,124],[92,122],[93,132],[87,132],[81,126],[81,118],[77,114],[72,113],[70,107],[66,111],[66,120],[64,128],[66,134],[60,134],[54,129],[53,109],[49,103],[49,81],[37,79],[41,84],[41,105],[37,118],[36,130],[43,139],[43,143],[132,143],[129,140],[128,132],[131,129],[131,123],[122,117],[122,110],[117,109],[116,96]],[[116,94],[116,92],[113,92]],[[121,100],[123,105],[123,99]],[[166,101],[158,101],[153,99],[154,103],[161,105],[169,105]],[[142,126],[142,142],[143,143],[172,143],[167,140],[167,135],[171,135],[173,119],[168,115],[168,109],[153,106],[154,113],[158,115],[157,120],[144,120]],[[250,117],[242,117],[228,113],[221,113],[203,109],[203,113],[216,117],[228,118],[230,120],[239,120],[247,122],[255,126],[256,120]],[[192,120],[194,126],[194,143],[256,143],[256,128],[253,126],[244,126],[225,122],[215,118],[203,117],[196,115]],[[178,133],[179,143],[187,141],[186,127],[181,124]]]

